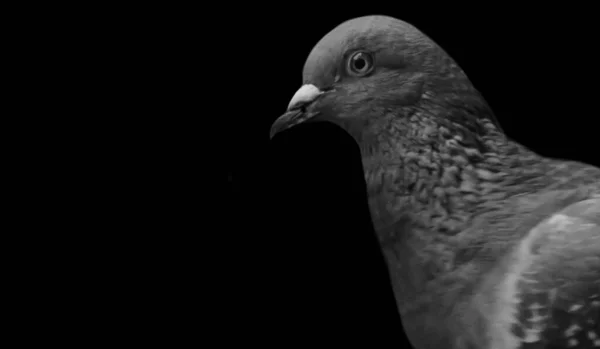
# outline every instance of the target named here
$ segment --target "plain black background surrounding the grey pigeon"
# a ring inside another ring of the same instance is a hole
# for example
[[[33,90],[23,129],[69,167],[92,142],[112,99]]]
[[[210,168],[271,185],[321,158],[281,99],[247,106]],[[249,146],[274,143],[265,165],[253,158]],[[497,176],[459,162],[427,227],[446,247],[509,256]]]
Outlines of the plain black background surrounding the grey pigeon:
[[[47,39],[47,46],[19,39],[34,48],[24,71],[42,77],[23,82],[58,92],[48,98],[52,103],[65,102],[56,113],[42,99],[28,97],[26,104],[39,105],[42,120],[65,122],[59,128],[81,138],[65,137],[67,149],[52,153],[54,161],[77,152],[66,159],[75,169],[59,175],[76,184],[76,196],[66,198],[61,182],[52,181],[47,186],[58,193],[44,205],[58,208],[56,217],[76,230],[64,247],[81,256],[65,254],[67,267],[59,270],[81,270],[66,275],[75,287],[65,290],[54,279],[33,290],[56,286],[65,301],[44,303],[73,303],[85,319],[94,318],[97,325],[67,314],[99,331],[88,340],[130,334],[132,342],[154,342],[163,335],[173,346],[191,333],[192,340],[217,334],[224,346],[405,342],[357,146],[329,124],[300,125],[269,139],[272,122],[301,85],[312,47],[353,17],[385,14],[414,24],[466,71],[511,138],[545,156],[600,165],[591,8],[195,5],[59,9],[65,20],[41,9],[49,23],[40,22],[32,37]],[[60,83],[73,91],[63,92]],[[64,121],[70,111],[76,117]],[[34,173],[45,177],[54,166]],[[58,205],[65,198],[73,210]],[[49,231],[44,219],[27,220]],[[51,257],[39,265],[63,257],[47,250]],[[72,336],[54,312],[48,316],[65,331],[57,334]]]

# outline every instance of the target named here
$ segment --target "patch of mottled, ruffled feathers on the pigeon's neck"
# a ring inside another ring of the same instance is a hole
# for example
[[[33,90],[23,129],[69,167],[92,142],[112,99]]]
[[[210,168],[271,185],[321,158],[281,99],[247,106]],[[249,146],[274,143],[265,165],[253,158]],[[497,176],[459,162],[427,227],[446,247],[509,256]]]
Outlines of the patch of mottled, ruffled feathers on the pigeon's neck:
[[[378,155],[363,157],[376,225],[386,221],[384,216],[420,212],[419,220],[453,234],[482,205],[511,195],[509,187],[516,187],[523,176],[518,171],[541,168],[535,166],[542,161],[539,156],[500,132],[448,136],[440,131],[444,125],[432,120],[405,122],[404,137],[380,138]],[[543,171],[528,174],[533,181],[543,175]]]

